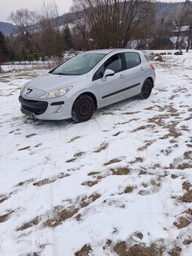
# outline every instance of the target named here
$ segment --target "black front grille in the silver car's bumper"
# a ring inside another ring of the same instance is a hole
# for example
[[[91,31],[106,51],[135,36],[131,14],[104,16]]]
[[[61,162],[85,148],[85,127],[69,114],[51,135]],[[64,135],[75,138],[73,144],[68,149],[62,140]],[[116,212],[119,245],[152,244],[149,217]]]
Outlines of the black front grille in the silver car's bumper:
[[[46,111],[48,102],[41,102],[39,100],[23,99],[22,96],[19,96],[19,101],[21,107],[30,111],[34,114],[43,114]]]

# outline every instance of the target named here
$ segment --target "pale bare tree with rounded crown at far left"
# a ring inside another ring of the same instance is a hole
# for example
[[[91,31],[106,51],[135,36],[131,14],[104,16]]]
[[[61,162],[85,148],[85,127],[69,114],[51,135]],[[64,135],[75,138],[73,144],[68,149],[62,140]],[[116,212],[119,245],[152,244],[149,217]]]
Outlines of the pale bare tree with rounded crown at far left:
[[[33,33],[35,23],[37,22],[37,15],[35,11],[20,9],[15,13],[11,12],[9,20],[17,26],[26,50],[28,50],[29,53],[32,53]]]

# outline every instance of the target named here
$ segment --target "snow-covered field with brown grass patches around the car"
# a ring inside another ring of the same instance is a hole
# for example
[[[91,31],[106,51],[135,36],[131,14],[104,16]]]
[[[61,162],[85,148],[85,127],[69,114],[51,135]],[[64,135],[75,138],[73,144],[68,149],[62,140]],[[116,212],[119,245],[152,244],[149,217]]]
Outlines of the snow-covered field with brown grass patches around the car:
[[[191,256],[192,52],[155,62],[147,100],[86,123],[32,120],[0,76],[1,256]]]

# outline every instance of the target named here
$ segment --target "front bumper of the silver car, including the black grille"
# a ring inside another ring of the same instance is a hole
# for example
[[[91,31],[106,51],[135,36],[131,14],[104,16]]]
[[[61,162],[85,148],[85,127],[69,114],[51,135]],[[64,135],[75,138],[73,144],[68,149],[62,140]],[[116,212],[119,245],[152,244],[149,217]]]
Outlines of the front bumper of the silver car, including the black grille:
[[[45,101],[24,99],[19,96],[21,112],[39,120],[64,120],[72,117],[72,100],[48,99]]]

